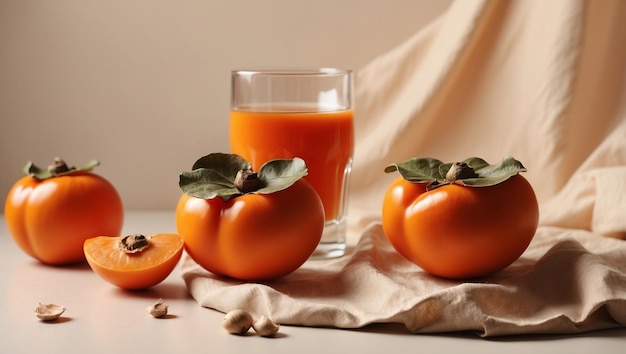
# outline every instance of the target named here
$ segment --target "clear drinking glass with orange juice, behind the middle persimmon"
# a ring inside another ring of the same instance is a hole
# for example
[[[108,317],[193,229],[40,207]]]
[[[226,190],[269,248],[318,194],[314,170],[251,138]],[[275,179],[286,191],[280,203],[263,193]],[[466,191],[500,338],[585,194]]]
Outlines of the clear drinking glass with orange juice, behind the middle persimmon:
[[[346,199],[354,152],[353,78],[343,69],[234,70],[232,153],[256,171],[277,158],[300,157],[324,205],[326,224],[312,259],[346,249]],[[294,205],[297,208],[297,205]]]

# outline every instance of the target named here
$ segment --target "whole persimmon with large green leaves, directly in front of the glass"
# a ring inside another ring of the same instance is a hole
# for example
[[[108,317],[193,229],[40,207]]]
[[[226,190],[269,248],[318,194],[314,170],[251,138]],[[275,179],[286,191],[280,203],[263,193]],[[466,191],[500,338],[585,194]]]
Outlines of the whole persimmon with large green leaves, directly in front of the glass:
[[[238,155],[215,153],[180,176],[176,226],[189,256],[206,270],[245,281],[299,268],[324,228],[318,194],[302,159],[268,161],[256,173]]]

